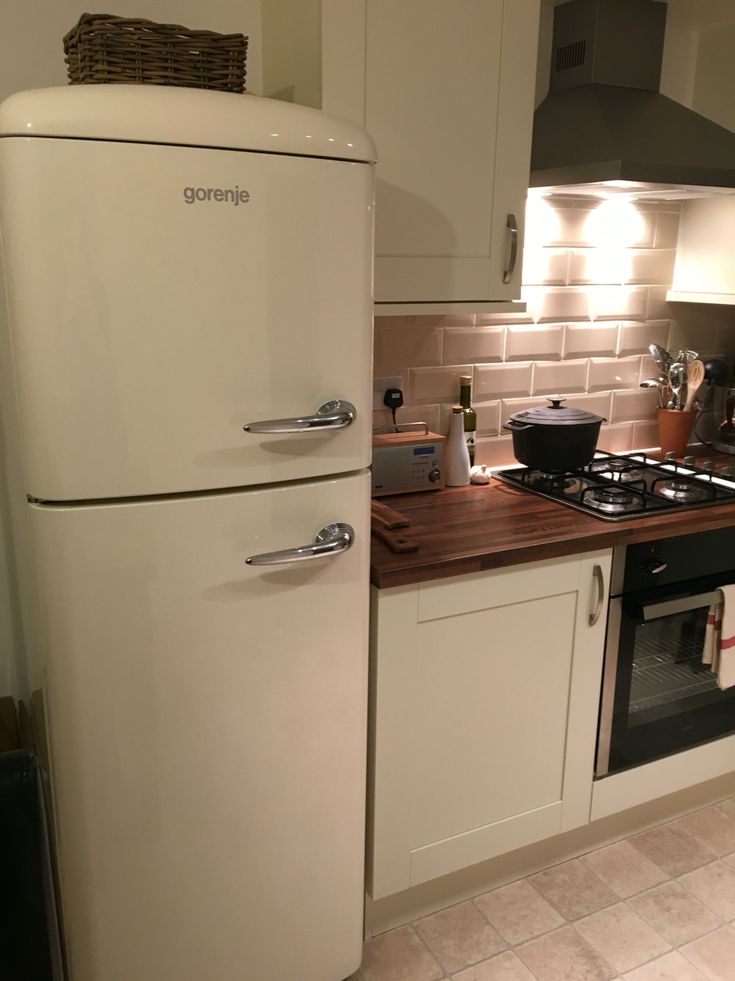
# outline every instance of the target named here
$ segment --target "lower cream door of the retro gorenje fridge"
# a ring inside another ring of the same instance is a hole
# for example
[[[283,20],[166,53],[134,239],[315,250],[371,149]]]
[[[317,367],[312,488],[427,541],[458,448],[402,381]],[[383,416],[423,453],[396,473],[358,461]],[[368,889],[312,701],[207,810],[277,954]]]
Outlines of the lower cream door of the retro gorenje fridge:
[[[30,506],[74,981],[357,969],[369,489]]]

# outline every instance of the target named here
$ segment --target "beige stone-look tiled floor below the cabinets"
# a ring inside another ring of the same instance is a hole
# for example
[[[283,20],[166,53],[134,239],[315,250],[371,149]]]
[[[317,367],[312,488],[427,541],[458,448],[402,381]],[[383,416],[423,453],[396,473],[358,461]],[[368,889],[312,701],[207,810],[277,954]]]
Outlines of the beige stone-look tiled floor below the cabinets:
[[[365,944],[352,981],[735,981],[735,797]]]

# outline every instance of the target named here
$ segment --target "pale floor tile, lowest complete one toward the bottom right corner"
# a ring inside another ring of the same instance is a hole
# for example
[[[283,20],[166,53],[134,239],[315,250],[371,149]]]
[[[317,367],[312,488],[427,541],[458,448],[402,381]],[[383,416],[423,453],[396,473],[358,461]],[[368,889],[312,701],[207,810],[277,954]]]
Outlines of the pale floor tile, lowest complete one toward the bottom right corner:
[[[626,903],[585,916],[575,928],[619,973],[632,971],[671,947]]]

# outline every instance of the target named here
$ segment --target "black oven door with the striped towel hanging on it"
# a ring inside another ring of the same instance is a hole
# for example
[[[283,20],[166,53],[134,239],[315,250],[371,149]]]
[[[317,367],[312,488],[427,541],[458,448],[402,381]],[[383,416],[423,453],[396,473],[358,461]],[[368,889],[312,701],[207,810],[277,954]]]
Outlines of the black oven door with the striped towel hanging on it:
[[[717,587],[732,581],[708,577],[610,600],[596,776],[735,732],[735,687],[722,691],[702,662]]]

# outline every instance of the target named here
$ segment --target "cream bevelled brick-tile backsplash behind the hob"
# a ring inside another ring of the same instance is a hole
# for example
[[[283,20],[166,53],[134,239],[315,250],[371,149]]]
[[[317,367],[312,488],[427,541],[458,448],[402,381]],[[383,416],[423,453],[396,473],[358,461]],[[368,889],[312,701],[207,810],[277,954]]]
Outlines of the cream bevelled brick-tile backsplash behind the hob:
[[[502,423],[553,394],[608,420],[602,449],[657,445],[656,393],[639,388],[656,374],[648,345],[735,348],[735,321],[718,308],[665,302],[678,205],[531,197],[526,222],[527,313],[376,318],[375,377],[401,376],[399,421],[446,433],[459,377],[471,374],[479,463],[512,462]]]

